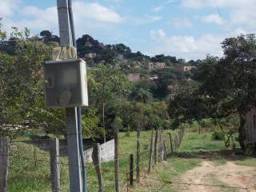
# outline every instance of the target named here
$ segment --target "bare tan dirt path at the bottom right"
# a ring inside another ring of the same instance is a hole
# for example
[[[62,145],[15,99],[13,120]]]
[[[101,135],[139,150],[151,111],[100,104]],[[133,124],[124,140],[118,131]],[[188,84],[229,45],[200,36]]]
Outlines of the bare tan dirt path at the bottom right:
[[[251,166],[238,166],[234,162],[226,162],[225,165],[217,165],[214,162],[203,161],[202,166],[195,167],[193,170],[186,171],[182,175],[180,182],[238,186],[243,188],[256,188],[256,169]],[[188,185],[178,186],[178,191],[190,192],[217,192],[217,191],[251,191],[238,188],[214,187]]]

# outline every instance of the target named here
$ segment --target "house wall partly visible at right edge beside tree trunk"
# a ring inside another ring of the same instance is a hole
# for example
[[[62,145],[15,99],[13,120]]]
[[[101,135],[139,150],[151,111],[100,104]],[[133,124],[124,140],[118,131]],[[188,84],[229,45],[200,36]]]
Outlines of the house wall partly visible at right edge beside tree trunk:
[[[246,114],[246,143],[256,142],[256,109],[251,108]]]

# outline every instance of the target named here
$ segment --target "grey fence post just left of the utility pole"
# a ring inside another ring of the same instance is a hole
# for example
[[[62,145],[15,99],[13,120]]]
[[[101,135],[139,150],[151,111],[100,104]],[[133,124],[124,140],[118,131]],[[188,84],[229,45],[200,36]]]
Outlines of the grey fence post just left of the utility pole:
[[[59,166],[59,141],[58,138],[50,140],[50,178],[53,192],[61,191],[61,170]]]

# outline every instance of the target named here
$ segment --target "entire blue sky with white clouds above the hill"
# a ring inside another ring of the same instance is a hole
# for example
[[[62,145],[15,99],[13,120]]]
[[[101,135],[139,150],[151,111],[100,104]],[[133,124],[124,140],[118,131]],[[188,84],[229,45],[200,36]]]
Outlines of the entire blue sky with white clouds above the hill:
[[[220,42],[256,30],[255,0],[73,0],[77,37],[124,43],[150,56],[222,56]],[[3,27],[58,34],[56,0],[1,0]]]

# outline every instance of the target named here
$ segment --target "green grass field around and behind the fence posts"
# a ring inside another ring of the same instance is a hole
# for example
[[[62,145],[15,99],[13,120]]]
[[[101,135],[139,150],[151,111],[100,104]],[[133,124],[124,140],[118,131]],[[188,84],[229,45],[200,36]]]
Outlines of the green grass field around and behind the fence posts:
[[[169,136],[166,133],[177,134],[175,131],[165,130],[164,139],[166,141],[167,151],[170,152]],[[142,166],[142,182],[139,186],[134,187],[132,191],[158,191],[163,192],[178,191],[170,185],[158,182],[150,178],[160,180],[176,181],[187,170],[200,166],[202,158],[198,154],[218,153],[226,150],[222,141],[212,141],[211,134],[198,134],[187,132],[183,138],[182,145],[174,154],[167,156],[166,162],[154,165],[150,174],[147,174],[147,165],[150,148],[150,131],[142,131],[141,133],[141,166]],[[129,155],[134,154],[134,162],[136,162],[136,132],[131,132],[130,136],[126,133],[120,134],[120,172],[128,173],[129,171]],[[34,150],[36,150],[36,158],[34,159]],[[239,156],[240,157],[240,156]],[[255,158],[236,158],[234,160],[238,165],[256,166]],[[212,159],[217,165],[226,163],[226,156],[214,157]],[[67,158],[61,158],[61,187],[62,191],[69,191],[69,171]],[[104,191],[114,191],[114,162],[102,163],[102,177]],[[149,178],[150,177],[150,178]],[[120,174],[122,191],[126,191],[127,178],[126,174]],[[87,180],[89,191],[98,191],[98,180],[95,174],[94,166],[87,164]],[[212,181],[218,182],[218,181]],[[8,180],[8,191],[10,192],[47,192],[50,189],[50,155],[49,153],[38,150],[34,146],[20,142],[14,142],[10,146],[10,174]]]

